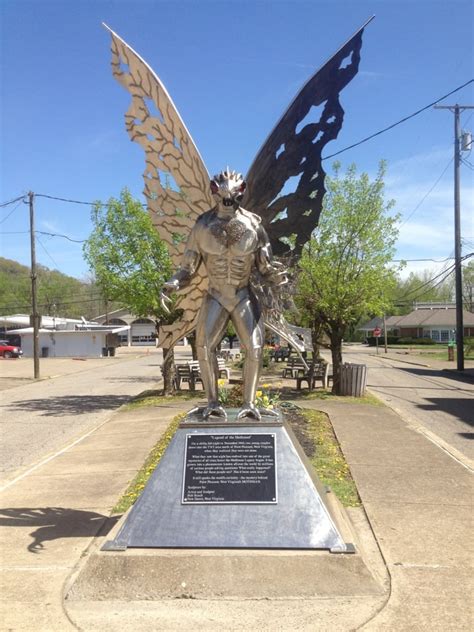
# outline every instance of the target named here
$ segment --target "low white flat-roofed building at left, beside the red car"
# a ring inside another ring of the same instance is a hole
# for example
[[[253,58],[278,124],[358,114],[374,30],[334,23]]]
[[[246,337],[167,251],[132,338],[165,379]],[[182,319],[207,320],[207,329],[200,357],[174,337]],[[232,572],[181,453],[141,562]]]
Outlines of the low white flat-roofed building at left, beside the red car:
[[[33,327],[25,314],[1,316],[4,335],[19,336],[24,357],[33,357]],[[18,328],[20,325],[20,328]],[[114,355],[120,337],[127,337],[128,325],[100,325],[85,319],[42,316],[39,327],[39,350],[43,357],[100,358]]]

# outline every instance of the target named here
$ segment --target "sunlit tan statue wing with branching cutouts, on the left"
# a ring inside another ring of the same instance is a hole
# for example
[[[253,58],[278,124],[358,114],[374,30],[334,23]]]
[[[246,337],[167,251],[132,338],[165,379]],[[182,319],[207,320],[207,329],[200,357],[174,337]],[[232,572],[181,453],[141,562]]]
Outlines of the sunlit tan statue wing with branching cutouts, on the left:
[[[209,174],[160,79],[126,42],[106,28],[112,36],[113,75],[131,95],[125,125],[131,140],[145,152],[148,211],[178,265],[197,217],[214,206]],[[171,186],[173,181],[177,190]],[[206,289],[201,268],[193,282],[179,292],[177,308],[183,310],[182,317],[161,328],[160,346],[170,347],[194,329]]]

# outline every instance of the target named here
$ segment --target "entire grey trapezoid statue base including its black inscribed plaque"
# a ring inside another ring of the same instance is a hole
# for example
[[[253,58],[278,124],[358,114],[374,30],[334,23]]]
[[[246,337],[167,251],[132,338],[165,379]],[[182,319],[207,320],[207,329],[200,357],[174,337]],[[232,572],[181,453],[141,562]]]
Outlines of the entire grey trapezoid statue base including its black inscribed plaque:
[[[352,553],[343,520],[291,428],[199,421],[178,428],[136,504],[103,551],[127,548],[326,549]],[[347,531],[347,530],[346,530]],[[347,531],[348,533],[348,531]]]

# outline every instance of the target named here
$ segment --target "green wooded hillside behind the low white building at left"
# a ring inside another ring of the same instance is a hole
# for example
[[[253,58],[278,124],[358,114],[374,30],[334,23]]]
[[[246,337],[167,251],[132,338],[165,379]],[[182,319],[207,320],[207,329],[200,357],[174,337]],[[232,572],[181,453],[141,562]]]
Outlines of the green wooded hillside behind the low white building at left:
[[[43,315],[92,318],[104,313],[94,283],[37,266],[38,311]],[[31,312],[30,268],[0,257],[0,315]]]

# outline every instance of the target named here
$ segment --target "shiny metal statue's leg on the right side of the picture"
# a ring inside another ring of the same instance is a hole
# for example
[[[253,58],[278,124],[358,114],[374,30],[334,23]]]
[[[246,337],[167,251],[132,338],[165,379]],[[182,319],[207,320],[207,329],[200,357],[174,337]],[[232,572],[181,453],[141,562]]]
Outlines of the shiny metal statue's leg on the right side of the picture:
[[[247,415],[260,419],[260,413],[255,406],[258,379],[262,368],[262,354],[264,345],[264,324],[258,305],[251,297],[244,298],[231,314],[240,343],[245,349],[244,405],[239,412],[239,418]]]

